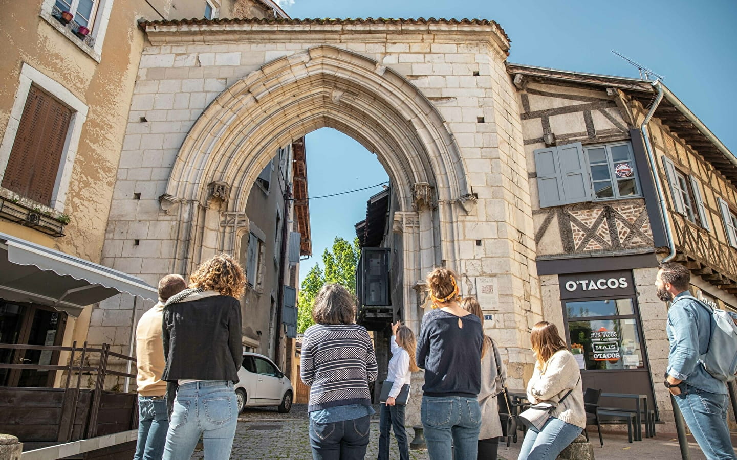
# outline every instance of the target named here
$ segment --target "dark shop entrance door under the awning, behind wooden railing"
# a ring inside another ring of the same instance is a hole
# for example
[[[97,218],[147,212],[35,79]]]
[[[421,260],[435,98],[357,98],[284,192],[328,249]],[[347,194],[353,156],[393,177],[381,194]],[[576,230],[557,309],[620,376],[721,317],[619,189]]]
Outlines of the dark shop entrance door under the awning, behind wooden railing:
[[[0,343],[60,345],[66,313],[36,304],[0,300]],[[0,349],[4,364],[48,364],[55,366],[59,352],[52,350]],[[54,386],[56,372],[50,369],[0,369],[0,386]]]

